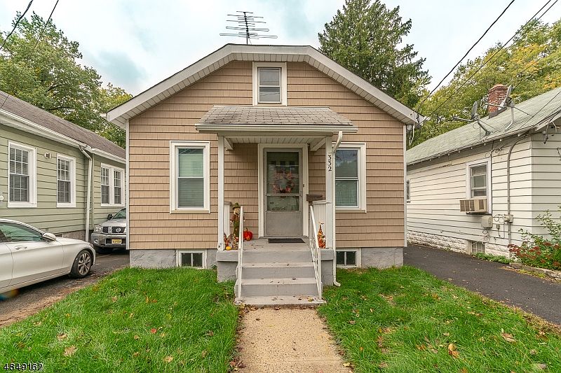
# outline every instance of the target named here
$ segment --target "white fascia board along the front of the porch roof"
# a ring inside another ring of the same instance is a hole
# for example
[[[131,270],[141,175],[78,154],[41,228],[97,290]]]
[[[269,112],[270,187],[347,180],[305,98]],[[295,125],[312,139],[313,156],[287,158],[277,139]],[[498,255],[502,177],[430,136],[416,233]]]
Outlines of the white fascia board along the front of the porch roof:
[[[355,126],[323,126],[323,125],[195,125],[198,132],[210,134],[224,134],[231,136],[234,133],[245,134],[275,132],[279,134],[292,135],[295,133],[333,134],[339,131],[345,133],[356,133]]]

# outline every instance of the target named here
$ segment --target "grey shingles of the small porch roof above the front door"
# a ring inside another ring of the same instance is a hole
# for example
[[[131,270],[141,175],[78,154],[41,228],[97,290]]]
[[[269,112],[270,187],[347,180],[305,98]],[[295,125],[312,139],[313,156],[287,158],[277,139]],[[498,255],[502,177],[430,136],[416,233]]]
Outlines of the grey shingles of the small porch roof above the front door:
[[[352,126],[353,122],[327,107],[213,106],[198,124]]]

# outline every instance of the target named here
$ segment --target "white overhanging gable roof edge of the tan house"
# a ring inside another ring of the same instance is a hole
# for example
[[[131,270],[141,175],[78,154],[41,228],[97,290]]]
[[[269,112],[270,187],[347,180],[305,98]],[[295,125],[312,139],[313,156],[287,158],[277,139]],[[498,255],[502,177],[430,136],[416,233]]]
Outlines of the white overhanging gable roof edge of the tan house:
[[[388,96],[363,78],[351,73],[351,71],[311,46],[241,44],[224,45],[224,47],[191,64],[186,69],[175,73],[154,85],[154,87],[133,97],[133,99],[113,108],[107,113],[107,120],[124,128],[126,120],[146,111],[231,61],[306,62],[381,108],[381,110],[393,115],[401,122],[406,124],[417,123],[417,113],[412,109]]]

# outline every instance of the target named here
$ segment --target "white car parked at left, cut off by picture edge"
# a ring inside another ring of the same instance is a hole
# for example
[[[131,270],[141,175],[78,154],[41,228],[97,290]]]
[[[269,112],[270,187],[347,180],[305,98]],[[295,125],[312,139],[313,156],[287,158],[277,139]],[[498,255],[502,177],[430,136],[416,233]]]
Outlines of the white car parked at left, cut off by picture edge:
[[[94,263],[95,251],[86,241],[0,219],[0,293],[66,274],[85,277]]]

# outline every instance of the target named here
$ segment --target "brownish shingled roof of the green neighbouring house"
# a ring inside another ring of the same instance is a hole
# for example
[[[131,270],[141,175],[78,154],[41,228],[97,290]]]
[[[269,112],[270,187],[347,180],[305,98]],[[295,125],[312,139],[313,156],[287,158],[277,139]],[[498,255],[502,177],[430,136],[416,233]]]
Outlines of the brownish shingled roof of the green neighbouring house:
[[[83,145],[90,146],[93,150],[101,150],[102,153],[109,153],[109,155],[114,155],[115,157],[121,158],[121,160],[125,160],[126,153],[123,148],[89,129],[75,125],[68,120],[62,119],[37,106],[13,97],[12,95],[8,95],[6,92],[0,91],[0,102],[4,102],[4,100],[6,100],[6,102],[0,110],[0,114],[8,115],[18,122],[30,122],[35,125],[39,131],[41,131],[42,128],[50,133],[54,132],[60,139],[72,139]],[[0,124],[5,123],[0,119]],[[48,135],[46,132],[42,132],[41,134],[44,136]]]

